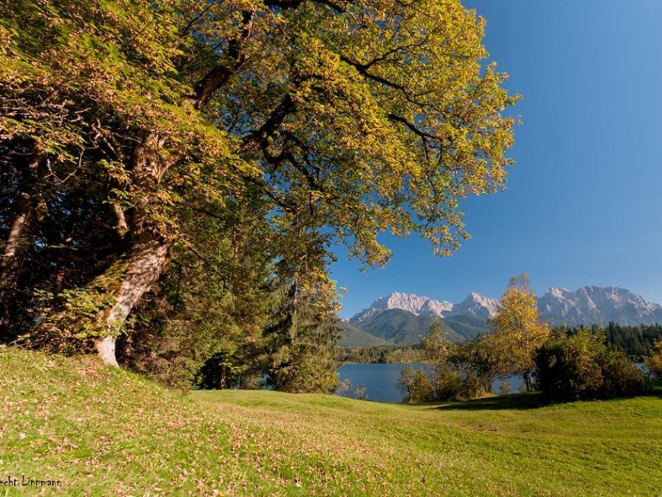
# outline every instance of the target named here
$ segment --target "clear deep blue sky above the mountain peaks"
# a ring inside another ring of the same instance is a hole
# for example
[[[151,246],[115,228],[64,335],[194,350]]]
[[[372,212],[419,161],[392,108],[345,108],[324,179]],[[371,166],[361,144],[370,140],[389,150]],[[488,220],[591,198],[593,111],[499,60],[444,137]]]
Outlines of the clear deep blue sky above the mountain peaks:
[[[507,190],[465,202],[473,239],[451,258],[416,235],[383,237],[393,258],[366,274],[339,252],[341,315],[393,291],[499,297],[522,271],[538,294],[614,285],[662,303],[662,1],[463,3],[524,95]]]

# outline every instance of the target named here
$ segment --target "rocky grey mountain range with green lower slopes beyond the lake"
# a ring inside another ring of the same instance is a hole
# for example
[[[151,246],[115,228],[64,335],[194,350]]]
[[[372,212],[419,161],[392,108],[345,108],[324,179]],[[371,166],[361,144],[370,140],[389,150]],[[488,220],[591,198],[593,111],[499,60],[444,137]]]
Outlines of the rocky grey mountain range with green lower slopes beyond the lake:
[[[487,319],[494,316],[498,303],[499,299],[476,292],[460,303],[393,292],[376,299],[371,306],[348,319],[345,328],[352,330],[352,345],[348,345],[346,330],[339,345],[357,347],[363,342],[364,346],[377,343],[414,345],[426,336],[435,318],[442,319],[442,326],[451,339],[465,340],[487,331]],[[617,287],[587,286],[574,292],[551,287],[542,297],[538,297],[538,308],[542,320],[550,325],[662,322],[662,306]],[[367,333],[371,338],[360,332]]]

